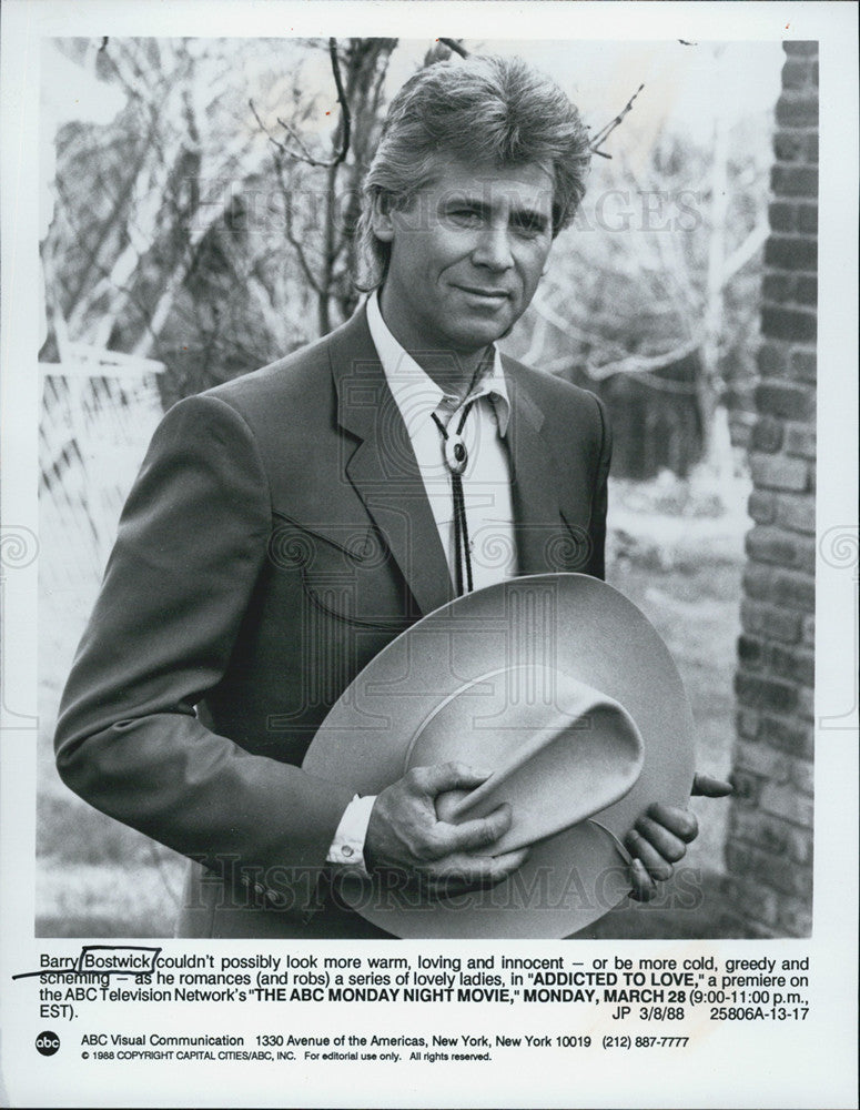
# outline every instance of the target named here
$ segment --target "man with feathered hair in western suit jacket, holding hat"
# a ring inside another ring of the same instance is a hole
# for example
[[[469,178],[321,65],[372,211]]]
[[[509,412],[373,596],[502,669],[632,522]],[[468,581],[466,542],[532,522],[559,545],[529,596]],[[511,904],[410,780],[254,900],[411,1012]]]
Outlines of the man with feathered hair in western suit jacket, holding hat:
[[[367,305],[175,405],[155,433],[57,751],[74,790],[194,861],[182,935],[380,936],[332,895],[342,869],[403,868],[433,896],[522,862],[493,852],[504,807],[436,820],[435,797],[479,769],[418,768],[360,799],[301,763],[364,664],[457,585],[603,575],[603,407],[494,347],[573,218],[587,160],[576,110],[522,62],[421,72],[367,175]],[[644,817],[640,894],[695,835],[684,811]]]

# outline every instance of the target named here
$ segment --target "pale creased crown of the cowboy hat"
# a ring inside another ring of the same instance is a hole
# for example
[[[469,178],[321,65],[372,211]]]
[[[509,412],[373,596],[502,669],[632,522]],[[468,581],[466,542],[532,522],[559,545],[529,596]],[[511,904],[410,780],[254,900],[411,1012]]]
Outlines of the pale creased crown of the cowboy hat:
[[[503,803],[510,829],[494,854],[560,833],[623,798],[643,767],[636,723],[614,698],[553,667],[508,666],[447,695],[415,731],[412,767],[449,760],[493,774],[439,795],[441,820],[484,817]]]

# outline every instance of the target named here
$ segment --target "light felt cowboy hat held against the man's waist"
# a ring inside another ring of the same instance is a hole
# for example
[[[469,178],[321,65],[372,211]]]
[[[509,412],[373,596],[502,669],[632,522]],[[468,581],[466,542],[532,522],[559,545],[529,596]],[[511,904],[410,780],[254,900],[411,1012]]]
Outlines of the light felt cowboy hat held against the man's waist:
[[[437,799],[442,820],[508,801],[494,846],[530,845],[490,889],[429,899],[391,878],[342,895],[399,937],[560,938],[630,890],[621,838],[655,801],[684,806],[692,718],[657,632],[611,586],[544,574],[442,606],[387,645],[344,690],[304,769],[378,794],[411,768],[456,759],[493,774]]]

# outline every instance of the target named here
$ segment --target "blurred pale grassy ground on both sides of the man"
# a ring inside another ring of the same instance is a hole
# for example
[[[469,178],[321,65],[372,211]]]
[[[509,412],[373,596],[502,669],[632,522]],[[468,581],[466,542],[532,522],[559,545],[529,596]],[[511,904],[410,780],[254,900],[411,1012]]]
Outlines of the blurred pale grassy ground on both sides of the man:
[[[698,769],[726,776],[733,743],[732,680],[739,630],[742,537],[738,506],[666,480],[616,483],[607,581],[649,617],[681,673],[697,728]],[[60,686],[92,586],[43,598],[37,824],[37,936],[169,937],[182,882],[181,857],[91,809],[59,780],[51,736]],[[70,615],[71,614],[71,615]],[[724,896],[722,845],[729,803],[692,799],[700,835],[684,862],[679,898],[667,884],[649,905],[627,904],[588,930],[600,938],[741,936]],[[674,890],[676,892],[674,892]]]

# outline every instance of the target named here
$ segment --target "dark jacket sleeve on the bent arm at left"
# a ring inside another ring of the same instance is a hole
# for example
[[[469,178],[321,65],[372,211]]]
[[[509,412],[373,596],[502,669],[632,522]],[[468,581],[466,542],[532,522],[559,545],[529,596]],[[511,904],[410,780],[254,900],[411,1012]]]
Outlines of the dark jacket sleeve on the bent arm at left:
[[[305,912],[352,791],[252,755],[194,713],[227,666],[270,531],[242,416],[211,395],[180,402],[123,509],[60,707],[57,765],[98,809],[216,874],[262,876],[273,902]]]

